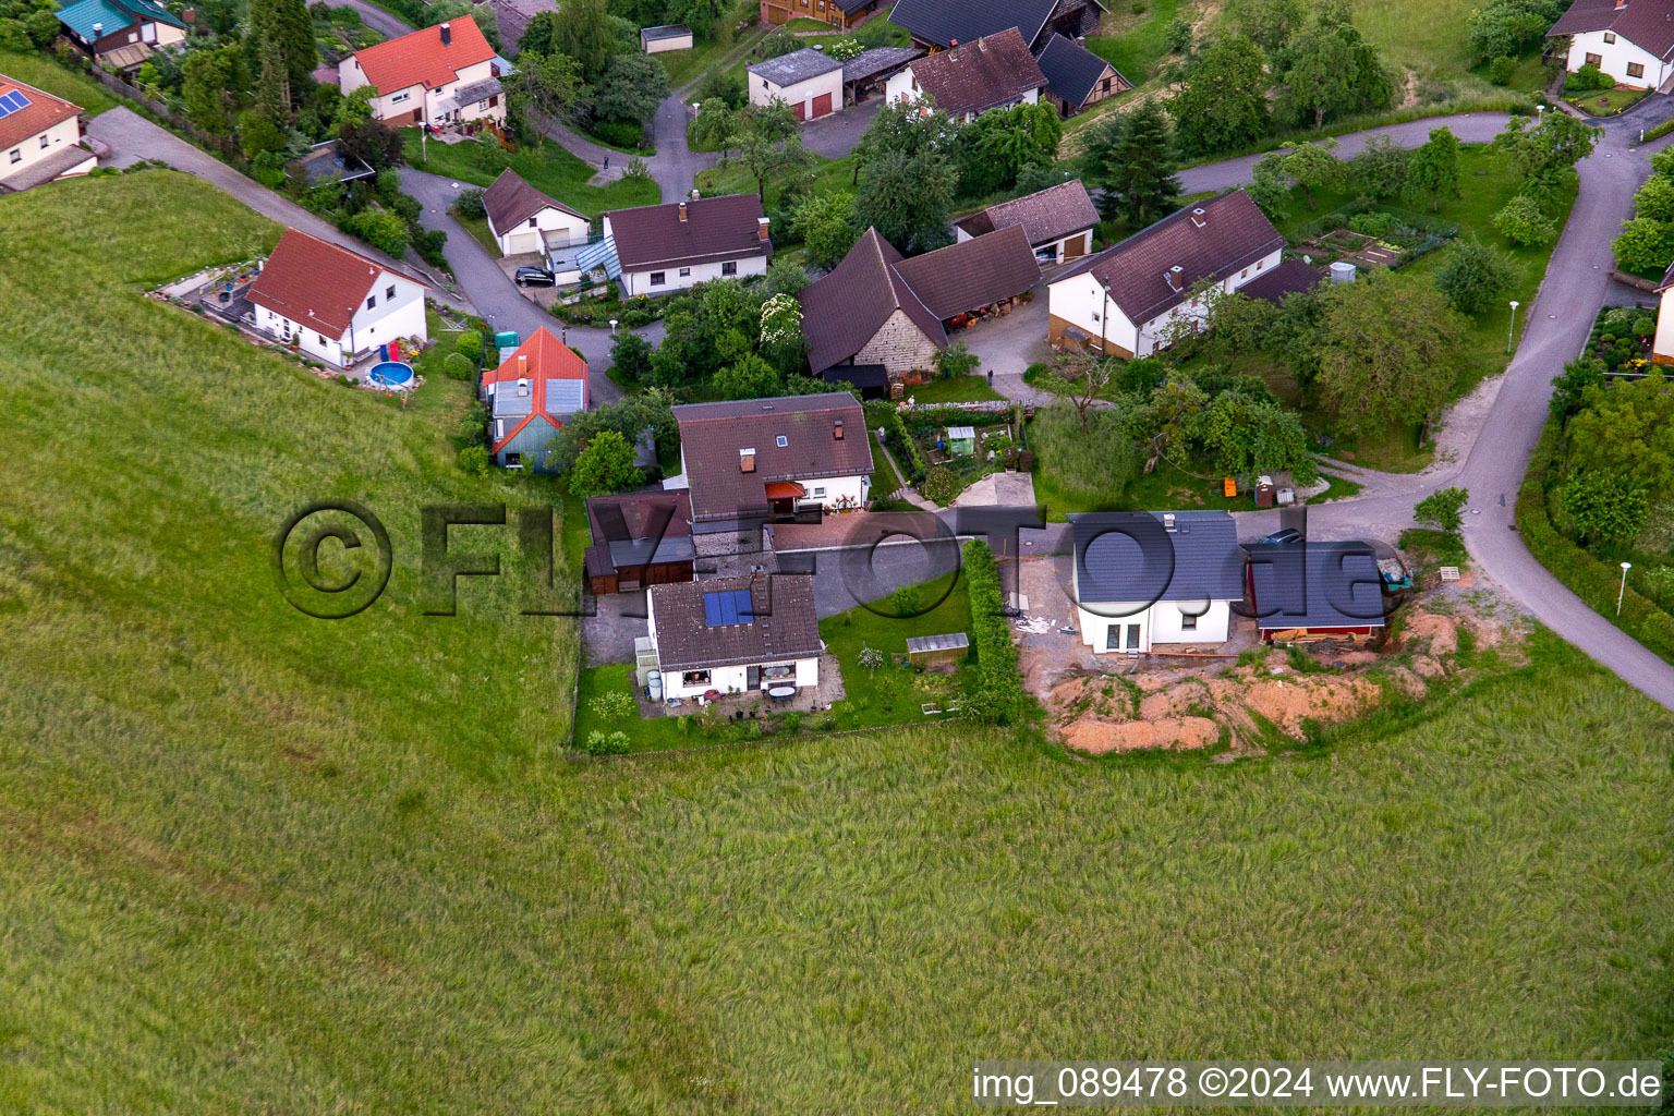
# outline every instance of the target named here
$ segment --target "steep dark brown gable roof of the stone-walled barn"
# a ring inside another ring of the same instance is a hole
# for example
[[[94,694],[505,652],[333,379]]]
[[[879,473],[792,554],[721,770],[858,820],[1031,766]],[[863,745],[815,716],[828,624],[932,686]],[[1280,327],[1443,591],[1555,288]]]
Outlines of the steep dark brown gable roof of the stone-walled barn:
[[[809,340],[809,368],[815,375],[854,356],[897,310],[931,341],[947,343],[941,318],[896,273],[897,263],[901,253],[877,229],[867,229],[830,274],[797,294],[802,299],[802,335]]]

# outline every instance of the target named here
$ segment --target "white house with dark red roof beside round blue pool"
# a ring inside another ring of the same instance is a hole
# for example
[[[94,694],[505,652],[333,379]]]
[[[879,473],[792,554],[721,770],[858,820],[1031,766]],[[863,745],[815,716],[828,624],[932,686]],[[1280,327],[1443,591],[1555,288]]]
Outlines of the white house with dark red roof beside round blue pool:
[[[390,341],[422,345],[429,289],[370,256],[285,229],[244,298],[259,331],[348,368]]]

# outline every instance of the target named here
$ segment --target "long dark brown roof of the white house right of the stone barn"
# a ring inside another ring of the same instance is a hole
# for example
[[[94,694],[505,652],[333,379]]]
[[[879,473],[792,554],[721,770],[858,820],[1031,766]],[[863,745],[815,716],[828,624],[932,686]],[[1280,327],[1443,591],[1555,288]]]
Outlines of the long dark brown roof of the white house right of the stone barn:
[[[1225,278],[1284,248],[1249,194],[1240,189],[1170,214],[1070,268],[1053,283],[1091,273],[1128,321],[1143,325],[1185,301],[1192,284]],[[1180,271],[1172,271],[1180,268]],[[1165,276],[1173,276],[1170,283]]]

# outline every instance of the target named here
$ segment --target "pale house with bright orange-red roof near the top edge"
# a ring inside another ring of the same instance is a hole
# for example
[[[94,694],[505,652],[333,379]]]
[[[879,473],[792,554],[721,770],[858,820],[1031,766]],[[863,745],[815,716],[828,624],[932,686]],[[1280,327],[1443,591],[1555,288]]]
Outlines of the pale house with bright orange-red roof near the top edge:
[[[336,65],[343,95],[362,85],[377,87],[372,115],[390,127],[504,124],[504,70],[506,64],[469,15],[357,50]]]

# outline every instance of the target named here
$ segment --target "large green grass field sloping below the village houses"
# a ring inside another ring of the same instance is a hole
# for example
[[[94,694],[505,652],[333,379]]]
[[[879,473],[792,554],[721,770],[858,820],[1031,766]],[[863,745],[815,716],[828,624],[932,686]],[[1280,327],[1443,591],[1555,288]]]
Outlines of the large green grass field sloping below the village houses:
[[[139,296],[275,236],[164,171],[0,199],[0,1111],[963,1111],[989,1056],[1674,1039],[1674,718],[1548,641],[1234,765],[567,761],[564,621],[420,616],[417,505],[534,495],[452,468],[464,387],[403,413]],[[311,497],[388,524],[358,617],[278,599]]]

